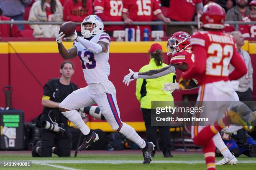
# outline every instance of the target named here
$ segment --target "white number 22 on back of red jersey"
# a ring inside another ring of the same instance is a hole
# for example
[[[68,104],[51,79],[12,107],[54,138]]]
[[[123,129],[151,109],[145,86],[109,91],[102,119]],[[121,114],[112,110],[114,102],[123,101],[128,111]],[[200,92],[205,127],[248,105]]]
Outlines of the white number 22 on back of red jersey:
[[[228,66],[233,56],[233,46],[222,47],[218,43],[212,43],[208,47],[206,59],[206,75],[228,76]]]

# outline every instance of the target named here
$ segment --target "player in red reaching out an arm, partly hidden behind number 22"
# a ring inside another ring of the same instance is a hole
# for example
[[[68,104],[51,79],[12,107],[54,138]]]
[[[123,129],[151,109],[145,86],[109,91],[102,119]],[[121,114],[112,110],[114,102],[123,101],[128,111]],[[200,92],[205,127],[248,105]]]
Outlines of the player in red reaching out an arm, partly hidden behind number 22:
[[[182,72],[187,71],[190,67],[192,67],[194,63],[194,54],[191,50],[190,46],[190,35],[187,32],[175,32],[172,37],[169,38],[166,46],[166,52],[167,55],[172,55],[171,63],[169,66],[161,68],[159,70],[149,70],[147,72],[132,72],[130,70],[130,73],[124,77],[125,84],[127,83],[129,85],[129,82],[132,81],[132,79],[137,78],[157,78],[166,74],[171,73],[172,71],[175,71],[172,67],[175,67],[175,69],[179,69]],[[190,80],[189,85],[187,86],[188,89],[192,89],[198,87],[197,86],[197,78],[193,78]],[[174,90],[180,89],[179,83],[177,82],[169,82],[164,84],[164,88],[162,90],[164,91],[170,91],[173,92]],[[221,151],[223,154],[225,160],[225,163],[217,163],[217,165],[223,165],[223,164],[236,164],[237,159],[235,156],[230,153],[225,143],[223,143],[223,140],[221,139],[221,136],[219,133],[217,133],[214,138],[214,144],[215,146]],[[222,161],[223,162],[223,161]]]

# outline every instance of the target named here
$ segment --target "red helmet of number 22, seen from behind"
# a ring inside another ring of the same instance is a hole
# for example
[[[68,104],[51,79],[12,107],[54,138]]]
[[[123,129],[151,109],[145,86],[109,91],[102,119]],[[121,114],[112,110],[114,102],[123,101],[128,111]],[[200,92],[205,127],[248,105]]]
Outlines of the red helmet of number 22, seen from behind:
[[[223,29],[226,20],[226,13],[223,7],[212,2],[205,5],[198,14],[198,28]]]

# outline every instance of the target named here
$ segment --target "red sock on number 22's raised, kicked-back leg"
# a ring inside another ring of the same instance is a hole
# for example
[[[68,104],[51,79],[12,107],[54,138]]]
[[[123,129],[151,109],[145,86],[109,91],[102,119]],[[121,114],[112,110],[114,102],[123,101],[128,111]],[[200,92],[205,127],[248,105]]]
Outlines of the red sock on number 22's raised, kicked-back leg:
[[[206,126],[193,138],[194,143],[196,145],[204,145],[211,140],[216,133],[229,124],[230,118],[226,116],[221,120],[216,121],[213,125]]]

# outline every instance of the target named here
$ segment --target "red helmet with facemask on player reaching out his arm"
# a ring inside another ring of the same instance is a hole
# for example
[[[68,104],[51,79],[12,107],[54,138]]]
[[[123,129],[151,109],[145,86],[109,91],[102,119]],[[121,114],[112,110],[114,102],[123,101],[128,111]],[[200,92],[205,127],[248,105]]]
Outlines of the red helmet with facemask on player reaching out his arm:
[[[187,47],[190,47],[190,37],[191,36],[187,32],[175,32],[167,41],[167,55],[170,55],[170,53],[174,55],[176,52],[183,51]]]

